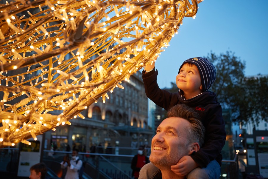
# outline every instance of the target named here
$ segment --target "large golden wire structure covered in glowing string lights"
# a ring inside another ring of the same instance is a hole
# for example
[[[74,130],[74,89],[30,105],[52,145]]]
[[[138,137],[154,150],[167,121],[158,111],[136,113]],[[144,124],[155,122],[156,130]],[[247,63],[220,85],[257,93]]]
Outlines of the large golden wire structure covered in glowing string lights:
[[[0,84],[0,148],[30,144],[27,139],[72,118],[84,119],[82,110],[100,97],[105,103],[108,92],[124,89],[121,81],[169,46],[201,1],[1,4],[0,82],[6,85]]]

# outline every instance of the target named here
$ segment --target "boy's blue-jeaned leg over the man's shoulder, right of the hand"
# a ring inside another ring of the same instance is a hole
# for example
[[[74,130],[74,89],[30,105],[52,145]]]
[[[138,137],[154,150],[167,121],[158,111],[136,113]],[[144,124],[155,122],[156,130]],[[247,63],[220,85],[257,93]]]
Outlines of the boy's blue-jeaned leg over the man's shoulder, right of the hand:
[[[206,168],[195,168],[188,175],[187,179],[219,179],[221,176],[221,167],[219,163],[214,160],[208,163]]]

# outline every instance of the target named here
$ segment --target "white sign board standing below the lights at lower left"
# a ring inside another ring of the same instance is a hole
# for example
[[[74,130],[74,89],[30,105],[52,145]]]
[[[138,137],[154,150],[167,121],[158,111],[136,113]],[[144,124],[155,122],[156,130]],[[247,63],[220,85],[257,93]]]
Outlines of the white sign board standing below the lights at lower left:
[[[38,135],[36,141],[33,138],[27,140],[31,142],[31,145],[20,143],[21,146],[18,163],[19,177],[29,177],[31,166],[36,163],[40,163],[42,139],[43,135]]]

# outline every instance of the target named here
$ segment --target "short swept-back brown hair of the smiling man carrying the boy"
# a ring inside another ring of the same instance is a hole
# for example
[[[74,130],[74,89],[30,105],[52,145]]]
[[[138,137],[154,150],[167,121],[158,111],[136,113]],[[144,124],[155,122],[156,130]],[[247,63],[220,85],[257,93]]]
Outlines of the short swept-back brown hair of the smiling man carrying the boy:
[[[190,127],[187,133],[188,143],[197,142],[201,147],[204,143],[205,127],[203,126],[200,116],[194,109],[185,104],[177,104],[170,108],[167,112],[167,117],[183,118],[190,122]]]

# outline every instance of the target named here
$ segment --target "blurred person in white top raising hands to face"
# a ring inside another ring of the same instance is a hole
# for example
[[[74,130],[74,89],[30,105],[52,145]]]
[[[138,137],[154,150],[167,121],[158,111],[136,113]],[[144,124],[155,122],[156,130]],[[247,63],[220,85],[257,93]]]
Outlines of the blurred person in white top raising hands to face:
[[[62,169],[67,167],[65,179],[79,179],[78,171],[81,169],[83,162],[79,160],[78,149],[73,149],[71,160],[66,155],[60,164]]]

